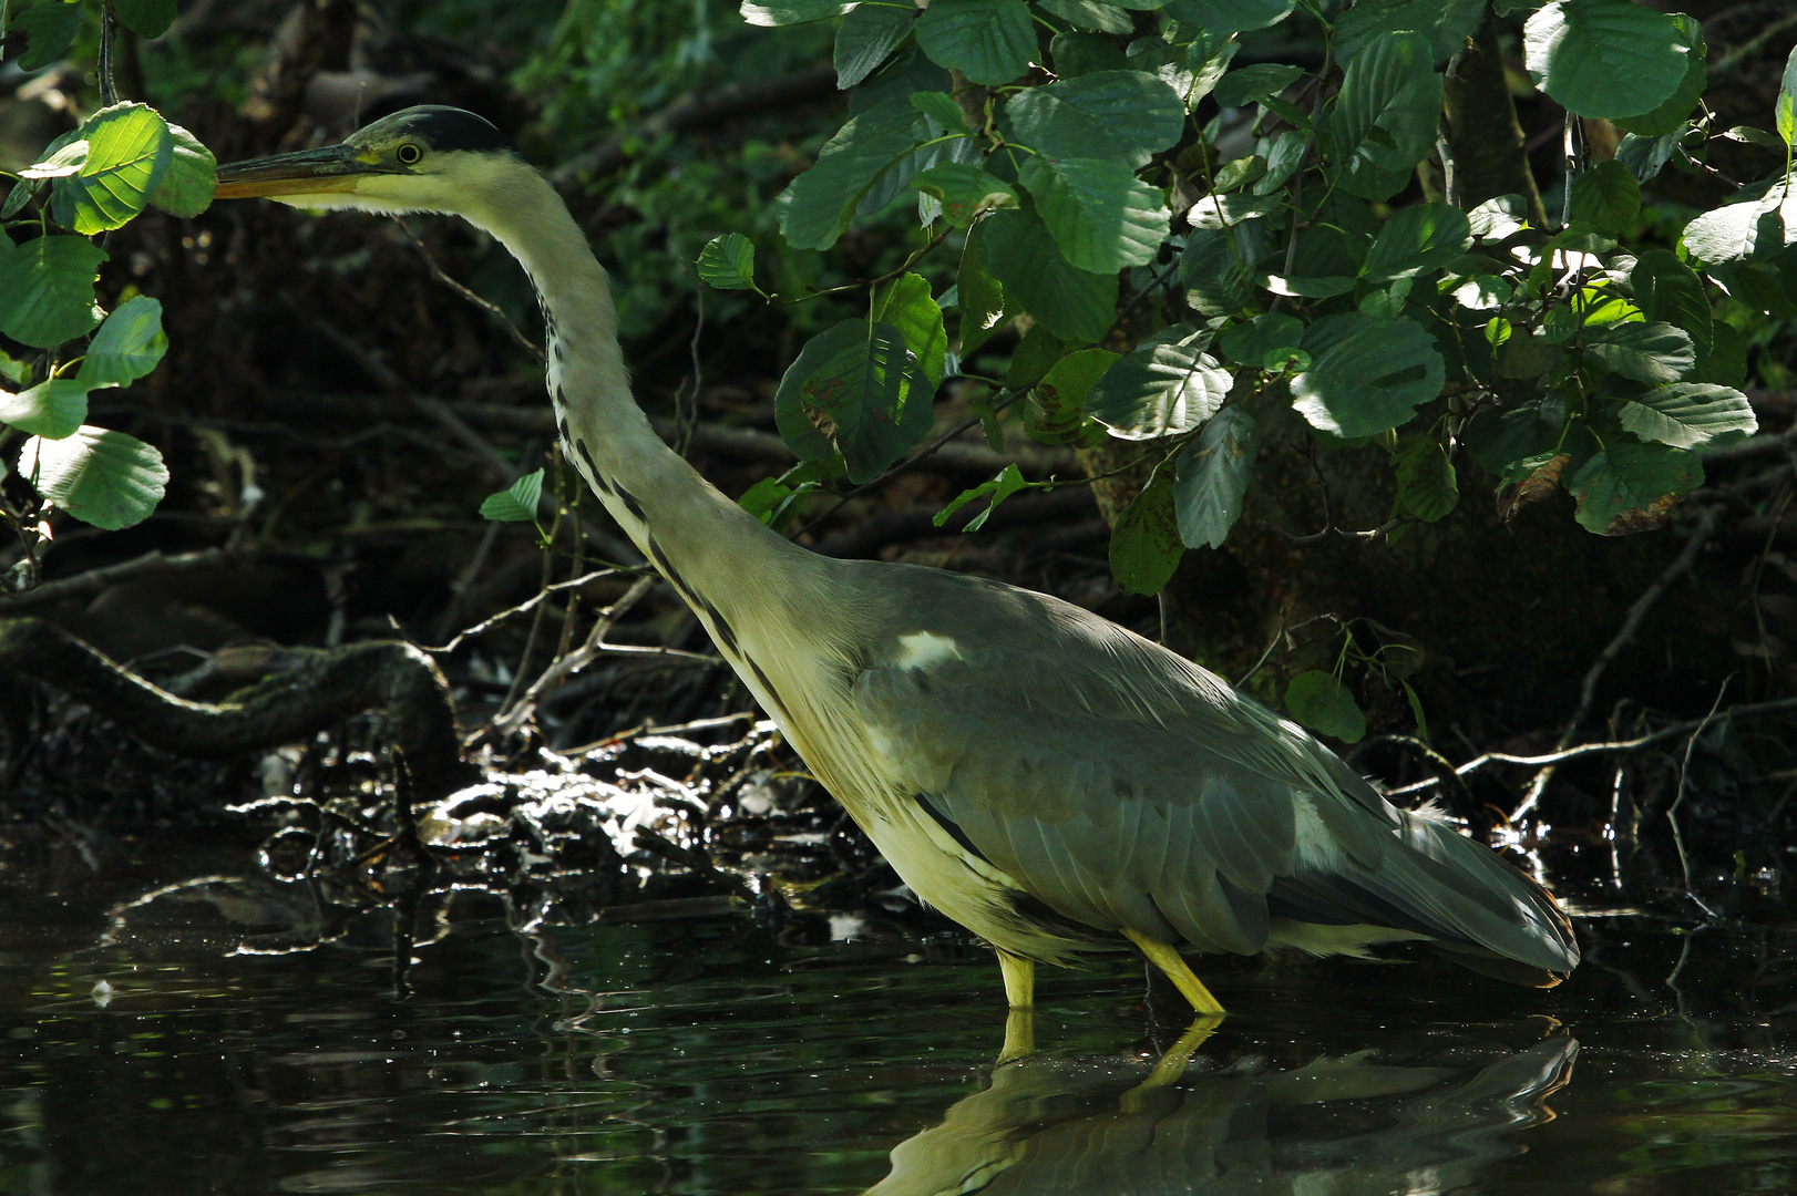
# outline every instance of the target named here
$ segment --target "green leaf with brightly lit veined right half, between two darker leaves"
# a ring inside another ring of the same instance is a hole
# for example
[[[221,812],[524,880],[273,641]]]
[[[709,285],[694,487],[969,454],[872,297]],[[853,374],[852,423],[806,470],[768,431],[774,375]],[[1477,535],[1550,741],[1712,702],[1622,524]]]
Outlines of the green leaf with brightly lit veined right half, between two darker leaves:
[[[1031,156],[1017,174],[1035,198],[1062,255],[1078,269],[1146,266],[1166,241],[1172,214],[1161,192],[1121,162]]]

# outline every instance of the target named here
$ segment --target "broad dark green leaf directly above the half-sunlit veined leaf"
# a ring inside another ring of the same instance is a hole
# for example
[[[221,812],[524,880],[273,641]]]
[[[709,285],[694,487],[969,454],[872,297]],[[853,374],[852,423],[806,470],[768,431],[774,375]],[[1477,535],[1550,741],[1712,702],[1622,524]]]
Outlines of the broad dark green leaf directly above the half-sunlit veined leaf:
[[[1139,70],[1100,70],[1026,88],[1005,104],[1006,140],[1049,158],[1109,158],[1139,171],[1179,142],[1186,106]]]

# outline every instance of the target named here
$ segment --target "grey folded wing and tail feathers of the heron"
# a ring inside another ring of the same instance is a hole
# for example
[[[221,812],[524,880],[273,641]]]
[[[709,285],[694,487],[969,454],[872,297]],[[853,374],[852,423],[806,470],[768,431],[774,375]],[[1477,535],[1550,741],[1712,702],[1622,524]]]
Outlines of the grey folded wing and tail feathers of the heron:
[[[1576,963],[1545,891],[1296,724],[1078,607],[972,594],[895,612],[952,646],[863,670],[857,715],[888,778],[1055,912],[1200,950],[1290,918]]]

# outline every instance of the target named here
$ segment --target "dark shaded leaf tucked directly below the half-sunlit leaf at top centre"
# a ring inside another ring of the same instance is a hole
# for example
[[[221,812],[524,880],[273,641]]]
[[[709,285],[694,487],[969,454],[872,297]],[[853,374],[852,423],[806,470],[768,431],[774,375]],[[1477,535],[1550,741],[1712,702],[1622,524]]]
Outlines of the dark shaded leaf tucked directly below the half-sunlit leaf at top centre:
[[[1116,273],[1073,266],[1033,208],[994,212],[979,223],[979,260],[1005,284],[1012,311],[1026,311],[1057,336],[1096,341],[1118,314]],[[0,264],[4,268],[4,264]]]

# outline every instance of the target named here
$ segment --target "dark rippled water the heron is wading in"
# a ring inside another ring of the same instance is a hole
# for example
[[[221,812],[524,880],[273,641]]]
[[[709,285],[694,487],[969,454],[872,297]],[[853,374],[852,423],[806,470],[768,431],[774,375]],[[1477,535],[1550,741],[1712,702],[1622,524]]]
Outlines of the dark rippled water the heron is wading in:
[[[997,970],[954,945],[521,934],[471,893],[399,998],[379,912],[259,954],[300,885],[70,893],[0,925],[0,1192],[1797,1191],[1779,930],[1587,918],[1547,993],[1218,964],[1233,1015],[1155,1083],[1181,1006],[1123,963],[1046,973],[1040,1052],[994,1068]]]

